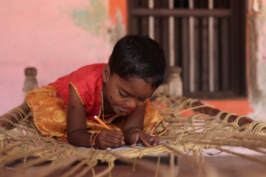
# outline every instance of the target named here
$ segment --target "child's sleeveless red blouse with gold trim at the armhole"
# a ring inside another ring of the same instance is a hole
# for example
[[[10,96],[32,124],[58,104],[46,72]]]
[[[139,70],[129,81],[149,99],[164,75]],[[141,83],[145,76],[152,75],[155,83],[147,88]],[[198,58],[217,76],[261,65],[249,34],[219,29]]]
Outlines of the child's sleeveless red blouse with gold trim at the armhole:
[[[69,85],[73,86],[82,105],[86,107],[86,117],[96,121],[94,116],[98,116],[101,108],[101,89],[103,86],[102,69],[105,63],[87,65],[71,74],[59,78],[50,85],[58,89],[58,97],[61,97],[68,104]],[[129,112],[131,113],[132,110]],[[115,117],[123,116],[116,114],[106,121],[112,121]]]

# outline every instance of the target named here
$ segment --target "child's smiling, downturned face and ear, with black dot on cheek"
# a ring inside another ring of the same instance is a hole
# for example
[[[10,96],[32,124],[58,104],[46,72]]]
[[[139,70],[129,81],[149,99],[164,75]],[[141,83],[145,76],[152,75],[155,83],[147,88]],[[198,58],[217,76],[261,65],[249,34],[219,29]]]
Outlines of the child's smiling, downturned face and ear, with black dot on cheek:
[[[124,80],[117,74],[110,76],[109,65],[103,69],[103,79],[106,84],[106,95],[115,113],[124,114],[132,108],[143,105],[152,96],[155,89],[143,79],[129,78]]]

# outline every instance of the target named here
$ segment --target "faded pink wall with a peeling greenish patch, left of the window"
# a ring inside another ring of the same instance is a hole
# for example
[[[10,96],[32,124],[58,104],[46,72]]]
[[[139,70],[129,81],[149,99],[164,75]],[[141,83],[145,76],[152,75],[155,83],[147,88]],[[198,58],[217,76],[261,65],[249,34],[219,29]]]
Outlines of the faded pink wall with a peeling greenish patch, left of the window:
[[[107,62],[115,26],[109,7],[121,15],[121,2],[114,8],[107,0],[1,1],[0,114],[22,103],[26,67],[36,67],[38,85],[45,86],[86,64]]]

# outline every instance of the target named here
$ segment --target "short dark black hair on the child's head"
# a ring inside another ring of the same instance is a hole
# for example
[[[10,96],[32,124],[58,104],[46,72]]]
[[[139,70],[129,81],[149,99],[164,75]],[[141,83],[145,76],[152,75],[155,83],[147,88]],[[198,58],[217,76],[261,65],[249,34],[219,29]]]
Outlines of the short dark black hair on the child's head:
[[[119,77],[142,78],[158,88],[165,74],[166,61],[164,50],[148,35],[126,35],[116,42],[108,61],[110,74]]]

